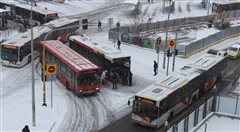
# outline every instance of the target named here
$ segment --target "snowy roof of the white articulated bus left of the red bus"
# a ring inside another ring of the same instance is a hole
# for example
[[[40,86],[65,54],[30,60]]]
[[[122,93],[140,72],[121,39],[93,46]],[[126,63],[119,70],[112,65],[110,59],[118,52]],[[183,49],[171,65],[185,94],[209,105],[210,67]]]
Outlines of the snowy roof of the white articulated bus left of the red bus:
[[[36,39],[38,37],[44,38],[44,36],[49,31],[51,31],[51,29],[46,26],[36,26],[33,28],[33,39]],[[31,30],[29,29],[24,33],[18,34],[16,37],[3,42],[2,45],[14,45],[14,46],[20,47],[30,41],[31,41]]]

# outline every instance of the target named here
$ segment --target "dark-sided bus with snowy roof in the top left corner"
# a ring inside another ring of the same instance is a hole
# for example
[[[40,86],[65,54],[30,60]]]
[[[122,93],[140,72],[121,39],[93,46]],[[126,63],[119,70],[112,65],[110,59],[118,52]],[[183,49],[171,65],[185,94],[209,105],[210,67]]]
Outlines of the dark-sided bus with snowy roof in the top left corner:
[[[0,8],[10,8],[13,19],[26,24],[29,24],[31,5],[21,4],[16,1],[0,1]],[[58,13],[46,9],[42,9],[38,6],[33,6],[33,20],[35,20],[35,26],[47,23],[51,20],[58,18]]]

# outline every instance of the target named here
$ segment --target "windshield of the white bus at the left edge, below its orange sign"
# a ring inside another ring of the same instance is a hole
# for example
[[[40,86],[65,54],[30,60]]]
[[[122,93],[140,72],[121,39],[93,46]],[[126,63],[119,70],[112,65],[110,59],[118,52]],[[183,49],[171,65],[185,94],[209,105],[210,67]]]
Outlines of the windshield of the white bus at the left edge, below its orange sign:
[[[2,60],[18,61],[18,48],[3,45],[1,48],[1,58]]]

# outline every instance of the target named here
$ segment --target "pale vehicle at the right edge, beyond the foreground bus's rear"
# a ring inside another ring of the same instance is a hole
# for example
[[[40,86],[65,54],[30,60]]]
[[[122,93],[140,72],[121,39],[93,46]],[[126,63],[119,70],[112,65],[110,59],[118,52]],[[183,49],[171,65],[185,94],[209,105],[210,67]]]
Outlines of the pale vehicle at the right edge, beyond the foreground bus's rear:
[[[227,50],[227,56],[232,59],[240,57],[240,43],[230,46]]]

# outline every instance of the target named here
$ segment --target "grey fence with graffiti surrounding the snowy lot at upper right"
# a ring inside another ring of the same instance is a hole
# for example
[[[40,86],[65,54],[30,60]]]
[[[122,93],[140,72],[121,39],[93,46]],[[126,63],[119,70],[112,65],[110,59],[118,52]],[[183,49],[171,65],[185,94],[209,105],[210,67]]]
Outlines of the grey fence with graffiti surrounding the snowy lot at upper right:
[[[227,12],[227,17],[239,17],[240,11],[231,11]],[[170,27],[170,30],[176,30],[179,27],[179,24],[186,22],[210,22],[212,20],[218,19],[219,15],[209,15],[201,17],[189,17],[189,18],[180,18],[173,19],[169,21],[160,21],[156,23],[144,23],[134,26],[123,26],[110,29],[108,32],[108,38],[116,40],[120,38],[122,42],[137,45],[144,48],[155,49],[156,39],[158,38],[159,32],[166,30],[167,24]],[[189,25],[185,25],[189,26]],[[192,25],[191,25],[192,26]],[[183,27],[183,26],[181,26]],[[200,51],[208,46],[214,45],[215,43],[223,41],[224,39],[235,37],[240,33],[240,26],[232,27],[226,30],[223,30],[219,33],[208,36],[207,38],[198,40],[196,42],[190,43],[189,45],[177,45],[179,55],[183,57],[188,57],[194,54],[197,51]],[[150,36],[151,35],[151,36]],[[165,44],[165,42],[163,41]],[[161,51],[164,51],[163,45],[160,47]]]

